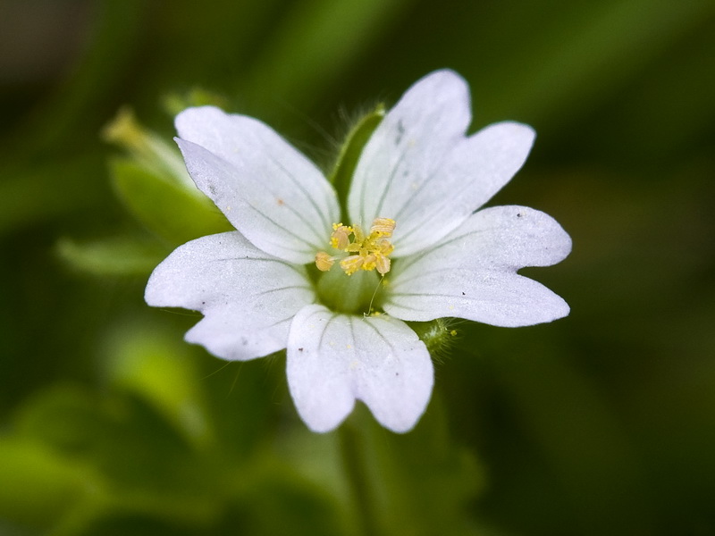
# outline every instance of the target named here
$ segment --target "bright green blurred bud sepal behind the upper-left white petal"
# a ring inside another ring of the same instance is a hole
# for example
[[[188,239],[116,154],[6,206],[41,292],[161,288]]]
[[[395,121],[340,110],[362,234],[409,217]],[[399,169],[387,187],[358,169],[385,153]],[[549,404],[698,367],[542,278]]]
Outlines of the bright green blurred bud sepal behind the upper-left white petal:
[[[130,213],[172,245],[233,230],[198,189],[194,193],[127,158],[112,161],[110,171],[114,190]]]

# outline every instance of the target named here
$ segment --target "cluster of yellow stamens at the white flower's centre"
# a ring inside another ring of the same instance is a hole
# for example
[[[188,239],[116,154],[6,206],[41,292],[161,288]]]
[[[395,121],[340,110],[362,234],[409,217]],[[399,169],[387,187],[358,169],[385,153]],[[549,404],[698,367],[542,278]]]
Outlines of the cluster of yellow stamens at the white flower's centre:
[[[377,272],[384,275],[390,272],[390,254],[394,247],[390,241],[395,221],[390,218],[375,218],[366,234],[359,225],[347,226],[342,223],[332,224],[330,245],[348,255],[329,255],[319,251],[315,255],[315,266],[321,272],[328,272],[332,264],[340,259],[342,271],[352,275],[358,270]]]

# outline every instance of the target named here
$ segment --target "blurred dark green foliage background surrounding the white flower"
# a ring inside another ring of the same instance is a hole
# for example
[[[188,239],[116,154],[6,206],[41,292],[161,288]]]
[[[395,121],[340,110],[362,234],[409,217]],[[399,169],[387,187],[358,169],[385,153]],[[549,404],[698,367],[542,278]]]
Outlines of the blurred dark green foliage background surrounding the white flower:
[[[324,164],[442,67],[473,130],[537,131],[492,204],[571,234],[524,271],[571,315],[456,325],[407,435],[312,434],[284,356],[225,364],[144,305],[178,241],[100,130],[222,102]],[[713,96],[711,0],[4,0],[0,534],[715,534]]]

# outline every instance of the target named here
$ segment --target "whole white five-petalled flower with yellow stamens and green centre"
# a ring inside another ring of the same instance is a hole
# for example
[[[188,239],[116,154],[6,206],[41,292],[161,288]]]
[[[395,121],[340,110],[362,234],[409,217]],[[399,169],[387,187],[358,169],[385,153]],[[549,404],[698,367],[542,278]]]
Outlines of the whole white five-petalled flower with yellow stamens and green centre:
[[[475,212],[525,162],[534,131],[501,122],[467,137],[470,122],[456,73],[416,82],[367,142],[341,214],[323,174],[264,123],[184,111],[189,173],[237,230],[177,248],[152,273],[147,303],[203,313],[186,339],[224,359],[287,348],[290,394],[314,431],[338,426],[356,399],[383,426],[410,430],[433,365],[405,321],[516,327],[568,314],[517,275],[568,255],[559,224],[524,206]],[[383,314],[366,314],[371,303]]]

